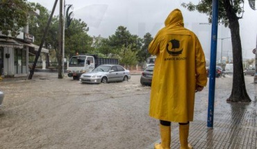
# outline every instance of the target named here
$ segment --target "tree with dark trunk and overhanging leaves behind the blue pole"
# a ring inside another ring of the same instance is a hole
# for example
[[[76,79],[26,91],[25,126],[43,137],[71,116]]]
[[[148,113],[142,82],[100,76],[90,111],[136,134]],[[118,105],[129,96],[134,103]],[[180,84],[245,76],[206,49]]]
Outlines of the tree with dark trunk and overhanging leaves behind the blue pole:
[[[219,1],[219,23],[224,26],[229,26],[231,30],[231,41],[233,51],[233,85],[228,102],[242,102],[249,103],[251,99],[247,94],[244,82],[244,72],[242,66],[242,45],[240,40],[239,19],[242,19],[244,0],[222,0]],[[193,3],[182,3],[182,6],[188,8],[190,11],[197,10],[200,13],[205,13],[209,16],[208,20],[211,22],[212,17],[212,1],[201,0],[197,5]]]

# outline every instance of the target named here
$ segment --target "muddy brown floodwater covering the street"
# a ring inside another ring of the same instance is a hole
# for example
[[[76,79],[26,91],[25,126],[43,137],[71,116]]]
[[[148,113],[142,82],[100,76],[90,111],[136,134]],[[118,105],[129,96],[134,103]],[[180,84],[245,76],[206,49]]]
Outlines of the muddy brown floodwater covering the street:
[[[254,78],[245,80],[254,100]],[[215,106],[231,110],[224,104],[231,87],[232,78],[216,79]],[[158,121],[148,114],[150,89],[140,85],[140,75],[100,85],[55,73],[2,81],[0,148],[146,148],[159,139]],[[195,100],[194,119],[205,121],[208,87]]]

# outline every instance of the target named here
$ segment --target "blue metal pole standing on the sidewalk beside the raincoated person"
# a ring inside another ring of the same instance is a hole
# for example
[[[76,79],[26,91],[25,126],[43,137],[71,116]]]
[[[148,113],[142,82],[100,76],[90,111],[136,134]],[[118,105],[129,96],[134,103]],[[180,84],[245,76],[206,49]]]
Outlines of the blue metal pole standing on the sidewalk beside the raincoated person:
[[[213,128],[214,116],[214,96],[215,96],[215,73],[216,73],[216,58],[217,58],[217,20],[218,20],[218,0],[213,0],[213,19],[211,30],[211,45],[210,45],[210,68],[209,68],[209,96],[208,96],[208,118],[207,127]]]

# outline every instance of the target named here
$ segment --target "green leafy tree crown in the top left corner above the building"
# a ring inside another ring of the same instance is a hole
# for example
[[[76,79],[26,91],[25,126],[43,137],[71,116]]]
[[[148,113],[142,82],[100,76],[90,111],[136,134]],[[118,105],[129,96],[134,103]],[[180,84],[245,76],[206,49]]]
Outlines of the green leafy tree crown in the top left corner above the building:
[[[3,35],[16,37],[20,28],[26,26],[28,15],[33,8],[26,0],[0,1],[0,30]]]

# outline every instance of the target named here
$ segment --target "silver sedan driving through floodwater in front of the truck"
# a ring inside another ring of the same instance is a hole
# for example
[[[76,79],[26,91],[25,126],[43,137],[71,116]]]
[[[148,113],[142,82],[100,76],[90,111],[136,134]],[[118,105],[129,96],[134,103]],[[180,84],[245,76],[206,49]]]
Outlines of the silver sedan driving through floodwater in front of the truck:
[[[122,82],[129,79],[131,79],[130,71],[118,64],[102,64],[80,77],[81,82],[87,83]]]

